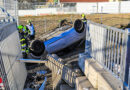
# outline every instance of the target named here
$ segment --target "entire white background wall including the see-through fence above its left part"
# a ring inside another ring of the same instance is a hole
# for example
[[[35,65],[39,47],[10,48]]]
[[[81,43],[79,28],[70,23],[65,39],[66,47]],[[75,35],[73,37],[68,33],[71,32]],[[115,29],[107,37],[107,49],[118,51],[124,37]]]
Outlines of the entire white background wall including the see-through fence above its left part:
[[[130,1],[94,3],[19,3],[19,16],[48,14],[130,13]],[[26,13],[25,13],[26,12]]]

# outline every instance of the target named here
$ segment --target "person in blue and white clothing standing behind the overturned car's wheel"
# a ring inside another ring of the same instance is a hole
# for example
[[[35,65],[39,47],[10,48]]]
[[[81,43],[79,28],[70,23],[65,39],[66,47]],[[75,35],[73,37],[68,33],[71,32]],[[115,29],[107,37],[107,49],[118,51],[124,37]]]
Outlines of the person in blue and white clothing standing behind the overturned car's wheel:
[[[26,27],[28,28],[28,35],[29,35],[29,39],[33,40],[35,38],[35,29],[34,26],[31,22],[31,20],[27,21],[28,25],[26,25]]]

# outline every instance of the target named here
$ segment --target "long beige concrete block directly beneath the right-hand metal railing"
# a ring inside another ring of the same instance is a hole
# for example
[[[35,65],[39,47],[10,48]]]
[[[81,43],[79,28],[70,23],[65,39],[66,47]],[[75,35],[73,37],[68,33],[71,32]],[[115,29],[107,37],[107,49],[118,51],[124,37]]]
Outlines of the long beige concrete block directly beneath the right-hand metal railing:
[[[85,60],[85,75],[98,90],[121,90],[122,83],[110,72],[103,69],[94,59]]]

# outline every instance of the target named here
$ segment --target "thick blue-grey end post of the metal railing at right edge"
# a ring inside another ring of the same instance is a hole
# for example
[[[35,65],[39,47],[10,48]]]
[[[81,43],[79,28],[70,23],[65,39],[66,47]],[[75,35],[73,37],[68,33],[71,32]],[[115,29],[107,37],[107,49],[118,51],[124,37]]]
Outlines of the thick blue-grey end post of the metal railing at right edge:
[[[127,50],[126,50],[126,62],[124,71],[124,85],[128,85],[129,79],[129,65],[130,65],[130,28],[127,29],[128,39],[127,39]],[[126,87],[126,86],[125,86]],[[124,87],[124,88],[125,88]]]

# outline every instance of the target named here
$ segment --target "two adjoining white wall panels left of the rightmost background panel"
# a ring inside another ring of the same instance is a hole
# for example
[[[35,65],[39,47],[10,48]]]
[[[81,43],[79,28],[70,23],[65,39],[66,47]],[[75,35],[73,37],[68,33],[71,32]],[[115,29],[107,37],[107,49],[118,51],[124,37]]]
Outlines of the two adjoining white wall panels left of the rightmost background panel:
[[[78,13],[119,13],[120,2],[77,3]],[[127,12],[130,13],[130,12]]]

